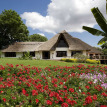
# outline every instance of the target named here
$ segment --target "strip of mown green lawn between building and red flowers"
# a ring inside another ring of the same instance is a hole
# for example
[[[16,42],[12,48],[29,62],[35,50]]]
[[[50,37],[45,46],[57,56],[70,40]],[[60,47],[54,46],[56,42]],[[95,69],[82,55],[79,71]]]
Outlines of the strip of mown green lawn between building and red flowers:
[[[0,65],[5,66],[6,64],[23,64],[24,66],[31,65],[36,67],[45,68],[49,65],[51,66],[72,66],[78,65],[79,63],[71,63],[71,62],[62,62],[55,60],[19,60],[17,58],[0,58]],[[93,65],[93,64],[84,64],[84,65]]]

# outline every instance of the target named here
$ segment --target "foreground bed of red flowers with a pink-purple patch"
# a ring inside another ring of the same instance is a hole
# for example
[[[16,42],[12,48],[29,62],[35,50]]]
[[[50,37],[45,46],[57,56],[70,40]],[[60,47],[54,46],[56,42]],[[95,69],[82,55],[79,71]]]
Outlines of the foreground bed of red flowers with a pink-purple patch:
[[[107,66],[0,66],[0,107],[107,107]]]

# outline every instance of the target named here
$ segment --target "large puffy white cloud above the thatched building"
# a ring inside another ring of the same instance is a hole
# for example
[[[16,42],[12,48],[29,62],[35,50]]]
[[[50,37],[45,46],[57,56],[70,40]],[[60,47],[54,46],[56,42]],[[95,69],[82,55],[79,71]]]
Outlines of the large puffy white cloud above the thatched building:
[[[47,16],[25,12],[21,17],[26,20],[28,27],[44,32],[82,32],[83,25],[93,27],[96,24],[91,13],[93,7],[99,7],[106,14],[106,0],[51,0]]]

